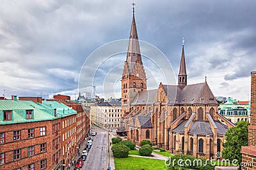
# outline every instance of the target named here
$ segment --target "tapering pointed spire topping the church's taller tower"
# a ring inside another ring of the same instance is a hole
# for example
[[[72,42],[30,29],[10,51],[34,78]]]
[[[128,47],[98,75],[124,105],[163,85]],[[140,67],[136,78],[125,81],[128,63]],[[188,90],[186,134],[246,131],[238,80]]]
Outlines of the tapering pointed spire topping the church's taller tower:
[[[134,69],[134,65],[136,63],[139,62],[139,64],[142,64],[138,33],[137,33],[136,22],[134,17],[134,5],[135,4],[132,3],[132,6],[133,6],[132,25],[131,25],[129,45],[128,45],[127,57],[126,57],[129,73],[132,73]]]

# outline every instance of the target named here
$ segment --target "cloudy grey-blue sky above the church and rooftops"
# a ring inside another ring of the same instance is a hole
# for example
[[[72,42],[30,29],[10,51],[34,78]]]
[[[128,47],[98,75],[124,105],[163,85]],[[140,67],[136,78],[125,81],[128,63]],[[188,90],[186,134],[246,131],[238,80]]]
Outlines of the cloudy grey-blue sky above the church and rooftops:
[[[8,98],[12,94],[41,93],[46,97],[52,92],[77,95],[81,67],[90,67],[84,65],[88,56],[106,43],[129,38],[131,3],[2,0],[1,96],[4,91]],[[179,72],[184,37],[188,83],[204,82],[207,75],[215,96],[248,99],[250,71],[256,70],[256,1],[135,3],[139,39],[159,48],[172,64],[175,75]],[[125,55],[116,60],[124,62]],[[95,74],[95,85],[106,80],[109,67],[113,67],[111,63]],[[93,63],[91,66],[94,67]],[[96,94],[102,95],[100,87],[96,87]]]

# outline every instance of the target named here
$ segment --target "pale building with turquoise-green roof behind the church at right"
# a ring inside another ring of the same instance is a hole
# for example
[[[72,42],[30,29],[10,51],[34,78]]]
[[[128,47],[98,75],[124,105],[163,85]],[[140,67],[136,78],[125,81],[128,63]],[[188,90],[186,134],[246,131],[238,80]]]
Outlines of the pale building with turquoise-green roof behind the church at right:
[[[250,104],[248,102],[239,103],[236,100],[232,100],[228,97],[227,102],[220,104],[218,113],[223,115],[234,124],[243,120],[244,122],[250,122]]]

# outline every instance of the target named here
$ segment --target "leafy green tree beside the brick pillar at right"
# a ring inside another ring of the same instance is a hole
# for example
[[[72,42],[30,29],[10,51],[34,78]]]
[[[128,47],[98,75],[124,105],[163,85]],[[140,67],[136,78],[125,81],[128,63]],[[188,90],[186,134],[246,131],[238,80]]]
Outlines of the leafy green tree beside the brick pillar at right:
[[[242,120],[237,123],[236,127],[228,129],[225,133],[225,136],[227,136],[226,142],[222,144],[224,147],[222,151],[223,158],[230,161],[237,159],[239,166],[242,162],[241,146],[248,145],[248,125],[249,123]]]

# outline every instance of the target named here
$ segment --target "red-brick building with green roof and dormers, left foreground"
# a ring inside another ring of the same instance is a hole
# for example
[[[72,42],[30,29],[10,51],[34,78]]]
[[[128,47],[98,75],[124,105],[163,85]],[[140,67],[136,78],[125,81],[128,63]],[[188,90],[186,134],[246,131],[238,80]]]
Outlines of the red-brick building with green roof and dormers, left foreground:
[[[77,111],[41,97],[19,99],[0,100],[0,169],[67,169],[77,153]]]

